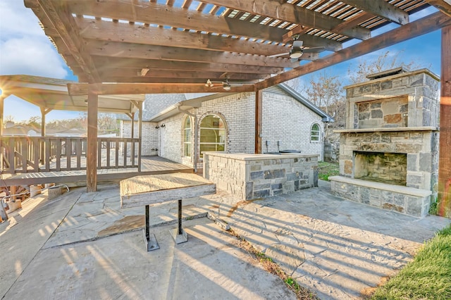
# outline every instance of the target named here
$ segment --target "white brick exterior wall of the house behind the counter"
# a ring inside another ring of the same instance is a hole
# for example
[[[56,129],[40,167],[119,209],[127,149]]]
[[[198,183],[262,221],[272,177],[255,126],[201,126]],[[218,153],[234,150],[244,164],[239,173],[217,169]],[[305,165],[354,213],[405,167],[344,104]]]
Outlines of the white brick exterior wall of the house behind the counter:
[[[197,115],[198,121],[205,115],[220,115],[226,123],[226,152],[254,153],[255,132],[255,96],[254,93],[230,94],[220,99],[204,101],[202,107],[193,108],[190,113]],[[171,161],[192,165],[193,160],[183,157],[183,122],[186,114],[179,113],[162,122],[143,122],[142,155],[158,155]],[[192,122],[192,145],[194,145],[194,120]],[[310,142],[310,129],[314,123],[319,124],[321,142]],[[123,137],[130,137],[130,122],[123,121]],[[155,129],[159,125],[158,130]],[[161,127],[164,125],[164,127]],[[137,137],[137,123],[135,125]],[[303,106],[291,96],[274,92],[263,93],[262,115],[262,150],[263,152],[294,149],[302,154],[318,154],[322,160],[323,122],[309,108]],[[197,127],[197,130],[199,128]],[[269,142],[266,149],[266,141]],[[199,154],[199,151],[196,151]],[[194,151],[193,151],[194,153]],[[200,167],[200,165],[199,165]]]

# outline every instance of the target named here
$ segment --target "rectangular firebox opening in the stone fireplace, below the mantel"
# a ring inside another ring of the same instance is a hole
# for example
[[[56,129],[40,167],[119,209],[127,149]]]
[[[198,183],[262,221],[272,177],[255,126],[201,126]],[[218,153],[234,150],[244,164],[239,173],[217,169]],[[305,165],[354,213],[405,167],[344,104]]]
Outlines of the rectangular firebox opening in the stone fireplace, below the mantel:
[[[405,186],[407,154],[354,151],[354,178]]]

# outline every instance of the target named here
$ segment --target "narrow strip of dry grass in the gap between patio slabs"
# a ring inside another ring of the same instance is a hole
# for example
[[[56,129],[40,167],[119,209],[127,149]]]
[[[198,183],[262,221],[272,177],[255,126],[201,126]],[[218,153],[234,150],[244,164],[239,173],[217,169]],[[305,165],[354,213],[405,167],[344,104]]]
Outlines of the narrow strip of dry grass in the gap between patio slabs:
[[[260,265],[269,273],[272,273],[274,275],[277,275],[280,277],[283,282],[285,282],[285,285],[291,289],[296,294],[297,299],[306,299],[306,300],[319,300],[319,298],[316,296],[314,292],[311,292],[306,287],[301,287],[294,278],[288,276],[285,271],[280,268],[280,265],[275,263],[271,257],[266,256],[266,254],[258,251],[255,249],[254,246],[252,246],[247,240],[240,237],[240,235],[237,234],[233,229],[228,230],[228,233],[230,235],[233,235],[237,238],[237,246],[244,249],[249,253],[249,255],[256,261],[260,263]]]

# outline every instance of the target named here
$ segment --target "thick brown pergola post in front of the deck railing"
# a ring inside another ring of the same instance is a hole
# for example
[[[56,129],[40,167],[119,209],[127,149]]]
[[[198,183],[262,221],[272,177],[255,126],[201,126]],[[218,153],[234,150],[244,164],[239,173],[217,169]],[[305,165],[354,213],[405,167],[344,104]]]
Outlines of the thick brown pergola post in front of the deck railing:
[[[97,191],[97,104],[99,97],[89,90],[87,95],[87,192]]]

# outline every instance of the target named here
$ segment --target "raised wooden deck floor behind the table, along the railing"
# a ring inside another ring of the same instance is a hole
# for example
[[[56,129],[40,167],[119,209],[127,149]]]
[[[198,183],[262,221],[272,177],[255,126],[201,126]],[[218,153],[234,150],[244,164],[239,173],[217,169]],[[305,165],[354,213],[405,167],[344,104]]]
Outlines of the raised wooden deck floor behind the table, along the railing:
[[[97,170],[97,182],[112,182],[137,175],[156,175],[167,173],[193,173],[193,168],[169,161],[159,156],[142,156],[141,172],[137,168],[109,168]],[[52,171],[23,174],[2,174],[1,185],[41,185],[63,183],[69,187],[86,185],[86,170]]]

